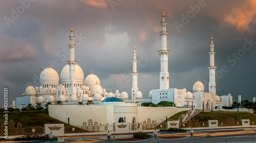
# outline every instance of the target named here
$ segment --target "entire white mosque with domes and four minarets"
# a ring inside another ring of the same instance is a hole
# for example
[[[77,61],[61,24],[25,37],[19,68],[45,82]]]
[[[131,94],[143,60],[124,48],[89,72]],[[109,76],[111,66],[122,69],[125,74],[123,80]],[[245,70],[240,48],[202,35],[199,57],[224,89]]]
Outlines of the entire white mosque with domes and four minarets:
[[[216,83],[215,83],[215,50],[213,38],[211,36],[210,43],[210,66],[209,70],[209,93],[204,92],[204,85],[199,80],[193,85],[193,93],[186,91],[186,89],[169,88],[169,73],[168,73],[168,55],[170,53],[167,50],[167,35],[165,15],[163,12],[160,32],[161,36],[161,49],[158,51],[160,55],[160,88],[150,91],[149,98],[143,99],[142,93],[138,88],[138,75],[137,72],[137,59],[136,48],[134,46],[133,52],[133,71],[132,75],[132,99],[129,99],[126,92],[108,93],[100,85],[100,79],[93,74],[93,71],[84,79],[83,70],[77,65],[75,61],[75,43],[73,36],[73,28],[71,27],[71,36],[69,36],[70,44],[70,60],[67,65],[63,67],[60,73],[60,83],[58,73],[50,67],[43,70],[40,74],[40,86],[32,87],[31,85],[26,88],[22,97],[17,97],[16,101],[13,101],[13,107],[22,108],[28,103],[32,103],[33,106],[36,103],[45,105],[47,102],[52,104],[57,101],[62,101],[66,105],[76,105],[77,102],[86,103],[88,100],[99,103],[105,98],[117,97],[126,103],[135,102],[153,102],[158,103],[160,101],[171,101],[178,107],[188,108],[204,108],[210,109],[216,106],[231,106],[232,96],[230,94],[219,97],[216,95]]]

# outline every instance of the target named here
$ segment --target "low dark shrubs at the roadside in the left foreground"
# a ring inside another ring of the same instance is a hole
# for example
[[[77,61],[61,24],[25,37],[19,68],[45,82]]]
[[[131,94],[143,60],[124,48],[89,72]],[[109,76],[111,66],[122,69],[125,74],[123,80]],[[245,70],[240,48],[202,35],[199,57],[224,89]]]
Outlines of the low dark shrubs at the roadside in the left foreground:
[[[53,140],[58,139],[56,136],[53,137]],[[14,141],[26,141],[26,140],[50,140],[49,134],[33,134],[33,135],[23,135],[20,137],[15,137]]]

